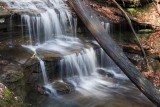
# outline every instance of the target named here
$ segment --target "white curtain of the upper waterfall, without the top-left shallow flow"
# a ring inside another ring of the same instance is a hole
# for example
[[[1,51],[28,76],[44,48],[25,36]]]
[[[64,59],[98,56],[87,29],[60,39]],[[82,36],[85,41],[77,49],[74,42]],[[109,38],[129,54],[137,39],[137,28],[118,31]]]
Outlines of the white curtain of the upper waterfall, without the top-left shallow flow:
[[[33,42],[41,44],[53,40],[56,36],[75,35],[73,25],[76,25],[76,22],[72,21],[74,19],[65,2],[63,0],[49,0],[48,2],[51,6],[43,0],[39,0],[37,4],[31,1],[34,6],[31,9],[44,12],[36,15],[21,15],[21,20],[27,29],[25,35],[29,36],[30,44]]]

